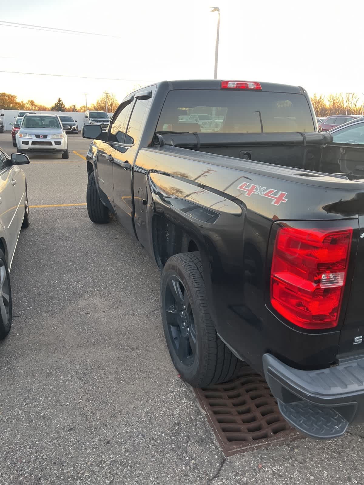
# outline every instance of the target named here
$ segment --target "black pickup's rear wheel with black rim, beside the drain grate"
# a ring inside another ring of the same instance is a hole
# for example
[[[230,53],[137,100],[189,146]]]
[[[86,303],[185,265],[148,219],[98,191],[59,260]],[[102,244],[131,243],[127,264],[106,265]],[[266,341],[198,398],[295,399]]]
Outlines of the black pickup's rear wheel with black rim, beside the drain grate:
[[[176,287],[177,291],[174,290]],[[183,316],[175,303],[178,301],[175,295],[178,296],[179,292],[183,295]],[[202,388],[231,379],[239,361],[216,333],[198,252],[176,254],[165,263],[161,279],[161,302],[169,354],[182,378],[191,386]],[[187,323],[182,321],[181,325],[181,319]],[[187,344],[184,336],[186,325],[189,325]],[[187,357],[183,352],[186,346],[189,346]]]

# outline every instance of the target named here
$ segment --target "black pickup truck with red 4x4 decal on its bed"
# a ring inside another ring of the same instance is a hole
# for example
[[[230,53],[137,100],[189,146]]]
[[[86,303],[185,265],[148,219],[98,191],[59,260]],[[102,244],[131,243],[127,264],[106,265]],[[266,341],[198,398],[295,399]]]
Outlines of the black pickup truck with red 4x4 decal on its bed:
[[[135,91],[83,137],[90,219],[114,214],[161,269],[182,377],[241,359],[309,436],[364,420],[363,146],[317,132],[301,87],[217,80]]]

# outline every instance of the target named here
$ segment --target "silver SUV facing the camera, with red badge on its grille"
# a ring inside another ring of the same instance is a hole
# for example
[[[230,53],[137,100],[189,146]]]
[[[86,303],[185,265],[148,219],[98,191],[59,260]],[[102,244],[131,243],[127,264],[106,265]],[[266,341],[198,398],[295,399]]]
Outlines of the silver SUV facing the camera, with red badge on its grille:
[[[66,129],[57,114],[25,114],[15,137],[17,152],[62,153],[67,159]]]

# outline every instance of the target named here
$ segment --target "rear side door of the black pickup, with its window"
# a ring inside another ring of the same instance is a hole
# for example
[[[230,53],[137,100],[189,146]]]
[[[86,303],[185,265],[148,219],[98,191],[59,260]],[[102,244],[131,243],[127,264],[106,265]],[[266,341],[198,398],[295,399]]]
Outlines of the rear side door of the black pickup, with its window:
[[[132,164],[139,145],[142,123],[148,108],[148,99],[138,99],[132,106],[132,114],[127,125],[123,144],[115,146],[114,152],[114,206],[121,224],[134,233]],[[134,194],[136,196],[137,194]]]

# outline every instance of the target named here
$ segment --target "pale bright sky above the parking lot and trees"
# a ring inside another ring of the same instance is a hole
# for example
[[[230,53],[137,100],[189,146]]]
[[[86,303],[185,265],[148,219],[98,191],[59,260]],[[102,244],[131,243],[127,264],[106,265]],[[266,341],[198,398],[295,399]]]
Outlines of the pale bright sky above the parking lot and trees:
[[[70,76],[0,72],[0,92],[81,106],[83,93],[88,104],[104,91],[121,101],[138,85],[211,79],[217,13],[209,7],[218,6],[218,79],[282,82],[310,95],[354,92],[364,99],[364,2],[214,1],[0,0],[0,21],[104,35],[0,25],[0,71]]]

